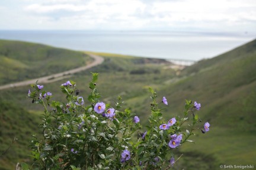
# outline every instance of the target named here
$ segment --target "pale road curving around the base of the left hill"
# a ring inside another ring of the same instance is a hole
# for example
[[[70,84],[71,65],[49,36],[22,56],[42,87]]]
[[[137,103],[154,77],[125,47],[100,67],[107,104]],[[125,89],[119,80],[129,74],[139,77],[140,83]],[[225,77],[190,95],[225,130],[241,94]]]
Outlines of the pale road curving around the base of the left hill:
[[[54,81],[62,80],[62,79],[65,79],[66,77],[69,77],[71,74],[75,74],[75,73],[78,73],[80,71],[87,70],[88,68],[97,66],[97,65],[103,63],[103,61],[104,61],[104,58],[100,57],[99,55],[94,55],[94,54],[91,54],[91,53],[86,53],[86,54],[88,54],[90,57],[94,58],[94,61],[92,61],[92,63],[89,63],[87,66],[74,68],[72,70],[63,71],[62,73],[56,73],[56,74],[52,74],[52,75],[49,75],[49,76],[39,77],[39,78],[36,78],[36,79],[20,81],[20,82],[17,82],[17,83],[5,84],[3,86],[0,86],[0,90],[14,88],[14,87],[20,87],[20,86],[28,86],[30,84],[36,83],[37,80],[38,80],[39,83],[51,83],[51,82],[54,82]]]

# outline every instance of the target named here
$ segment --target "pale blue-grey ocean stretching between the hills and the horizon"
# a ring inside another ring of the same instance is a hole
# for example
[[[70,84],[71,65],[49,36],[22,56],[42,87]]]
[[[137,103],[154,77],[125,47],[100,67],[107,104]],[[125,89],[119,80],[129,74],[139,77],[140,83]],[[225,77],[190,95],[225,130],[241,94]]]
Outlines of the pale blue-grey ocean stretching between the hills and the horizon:
[[[37,42],[71,50],[199,61],[232,50],[256,34],[174,31],[10,31],[0,39]]]

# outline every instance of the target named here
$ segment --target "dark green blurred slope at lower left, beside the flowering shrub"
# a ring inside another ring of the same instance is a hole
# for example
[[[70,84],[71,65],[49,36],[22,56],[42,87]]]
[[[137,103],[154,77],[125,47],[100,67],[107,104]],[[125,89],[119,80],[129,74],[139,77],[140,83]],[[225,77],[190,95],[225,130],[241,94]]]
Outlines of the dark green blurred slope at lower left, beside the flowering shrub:
[[[14,169],[18,162],[32,161],[28,145],[31,135],[39,133],[40,119],[14,103],[0,101],[0,110],[0,169]]]

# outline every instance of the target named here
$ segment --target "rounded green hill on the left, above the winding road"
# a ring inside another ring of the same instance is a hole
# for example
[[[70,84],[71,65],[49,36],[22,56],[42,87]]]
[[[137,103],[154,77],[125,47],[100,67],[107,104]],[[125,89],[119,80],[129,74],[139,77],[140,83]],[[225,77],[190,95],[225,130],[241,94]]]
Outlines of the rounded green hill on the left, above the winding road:
[[[84,66],[91,60],[80,51],[0,40],[0,84],[59,73]]]

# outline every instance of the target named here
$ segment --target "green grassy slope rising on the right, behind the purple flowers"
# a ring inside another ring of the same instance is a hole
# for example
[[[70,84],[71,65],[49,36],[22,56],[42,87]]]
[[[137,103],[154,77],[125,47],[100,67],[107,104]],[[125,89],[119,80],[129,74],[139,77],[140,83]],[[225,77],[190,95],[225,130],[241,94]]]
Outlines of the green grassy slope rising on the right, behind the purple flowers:
[[[185,68],[180,77],[165,81],[165,87],[158,92],[169,99],[167,114],[181,113],[184,99],[193,99],[201,103],[201,119],[211,124],[207,135],[195,137],[197,145],[184,145],[182,151],[208,153],[222,165],[255,163],[255,68],[256,40],[200,61]],[[133,99],[138,110],[149,102],[144,99]]]

